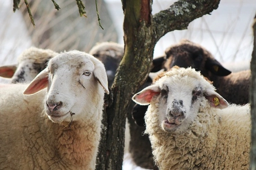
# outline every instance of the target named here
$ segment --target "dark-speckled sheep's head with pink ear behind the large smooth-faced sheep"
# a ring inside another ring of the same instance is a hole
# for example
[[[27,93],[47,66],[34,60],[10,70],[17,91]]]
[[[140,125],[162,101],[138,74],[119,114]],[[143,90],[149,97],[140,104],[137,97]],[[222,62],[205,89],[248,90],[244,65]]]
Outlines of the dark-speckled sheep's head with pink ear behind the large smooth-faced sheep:
[[[0,76],[10,78],[11,83],[32,81],[57,54],[51,49],[30,47],[18,56],[18,64],[0,66]]]

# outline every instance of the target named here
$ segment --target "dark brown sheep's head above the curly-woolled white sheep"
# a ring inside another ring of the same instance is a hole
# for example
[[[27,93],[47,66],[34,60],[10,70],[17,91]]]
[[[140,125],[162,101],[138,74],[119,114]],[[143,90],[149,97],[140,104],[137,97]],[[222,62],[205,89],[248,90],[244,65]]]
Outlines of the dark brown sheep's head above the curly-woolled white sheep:
[[[186,39],[166,49],[165,54],[168,59],[164,65],[166,70],[175,65],[184,68],[192,67],[208,78],[212,74],[226,76],[231,73],[216,61],[208,50]]]

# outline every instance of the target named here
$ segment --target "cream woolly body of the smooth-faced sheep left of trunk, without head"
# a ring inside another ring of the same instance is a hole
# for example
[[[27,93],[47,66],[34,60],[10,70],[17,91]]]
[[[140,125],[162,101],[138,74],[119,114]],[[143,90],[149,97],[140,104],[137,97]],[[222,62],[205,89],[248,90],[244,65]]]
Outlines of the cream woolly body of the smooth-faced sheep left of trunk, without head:
[[[13,84],[0,88],[0,169],[94,170],[102,106],[86,121],[72,121],[68,127],[68,122],[54,123],[46,118],[46,89],[24,96],[26,87]],[[94,96],[103,103],[103,98]]]

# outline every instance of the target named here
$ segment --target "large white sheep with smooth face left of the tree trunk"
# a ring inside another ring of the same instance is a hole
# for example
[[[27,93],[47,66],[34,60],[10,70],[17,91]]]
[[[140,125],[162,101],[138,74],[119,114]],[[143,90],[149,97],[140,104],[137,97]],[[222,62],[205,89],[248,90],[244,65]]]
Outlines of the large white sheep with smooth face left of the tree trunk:
[[[0,88],[1,169],[94,170],[104,91],[103,63],[77,50],[52,58],[29,85]]]

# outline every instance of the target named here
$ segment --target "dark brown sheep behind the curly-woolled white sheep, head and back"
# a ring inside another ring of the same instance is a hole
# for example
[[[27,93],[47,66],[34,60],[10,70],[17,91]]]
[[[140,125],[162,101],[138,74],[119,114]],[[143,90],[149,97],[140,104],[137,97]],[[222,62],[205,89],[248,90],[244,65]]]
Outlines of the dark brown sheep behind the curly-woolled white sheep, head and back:
[[[217,92],[228,102],[235,104],[249,102],[250,70],[231,73],[216,61],[208,50],[189,40],[181,40],[179,44],[167,48],[165,53],[168,59],[165,62],[165,70],[175,65],[184,68],[193,67],[213,81]]]

